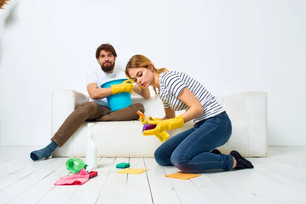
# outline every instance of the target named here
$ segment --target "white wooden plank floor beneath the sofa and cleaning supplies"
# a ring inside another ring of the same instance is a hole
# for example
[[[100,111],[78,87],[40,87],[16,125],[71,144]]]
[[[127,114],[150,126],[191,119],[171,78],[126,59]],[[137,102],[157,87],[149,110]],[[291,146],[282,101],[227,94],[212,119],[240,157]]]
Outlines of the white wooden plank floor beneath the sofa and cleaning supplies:
[[[33,162],[37,147],[0,147],[0,203],[306,203],[306,147],[269,147],[267,158],[249,158],[253,169],[203,171],[190,180],[148,158],[98,158],[98,176],[81,186],[55,186],[68,175],[68,158]],[[85,159],[85,158],[83,158]],[[117,163],[146,168],[119,174]]]

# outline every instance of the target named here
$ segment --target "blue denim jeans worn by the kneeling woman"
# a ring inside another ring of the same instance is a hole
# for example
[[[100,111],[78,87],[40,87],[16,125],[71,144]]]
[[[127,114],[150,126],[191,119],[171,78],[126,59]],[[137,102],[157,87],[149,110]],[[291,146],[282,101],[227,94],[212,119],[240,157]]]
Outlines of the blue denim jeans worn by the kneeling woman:
[[[224,169],[233,167],[231,155],[210,151],[225,144],[232,135],[232,122],[226,112],[196,123],[191,129],[173,136],[158,147],[155,160],[162,166],[182,171]]]

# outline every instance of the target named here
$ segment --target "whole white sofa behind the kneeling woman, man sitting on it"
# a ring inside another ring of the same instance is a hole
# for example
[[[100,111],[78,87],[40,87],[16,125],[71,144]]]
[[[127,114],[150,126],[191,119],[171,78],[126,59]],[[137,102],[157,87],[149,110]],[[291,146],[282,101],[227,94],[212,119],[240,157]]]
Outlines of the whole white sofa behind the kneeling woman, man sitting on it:
[[[233,126],[230,140],[218,149],[223,154],[229,154],[235,149],[243,157],[266,157],[267,94],[251,91],[216,98],[230,116]],[[53,91],[52,135],[57,132],[67,116],[87,100],[88,96],[78,91]],[[147,116],[164,116],[162,101],[156,100],[155,96],[144,99],[132,94],[132,103],[142,103]],[[61,148],[57,148],[52,157],[85,157],[87,123],[84,122]],[[142,135],[142,124],[139,120],[94,123],[93,138],[97,145],[98,157],[153,158],[154,151],[162,144],[155,136]],[[168,133],[171,137],[192,126],[193,122],[190,121],[181,129]]]

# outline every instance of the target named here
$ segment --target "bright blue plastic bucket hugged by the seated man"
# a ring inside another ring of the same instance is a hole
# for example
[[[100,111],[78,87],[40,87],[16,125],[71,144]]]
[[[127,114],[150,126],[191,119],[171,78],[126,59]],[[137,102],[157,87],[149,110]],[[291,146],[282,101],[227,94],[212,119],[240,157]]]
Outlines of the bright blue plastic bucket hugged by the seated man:
[[[101,88],[109,88],[111,85],[115,84],[121,84],[125,80],[128,80],[127,78],[124,79],[115,79],[115,80],[110,80],[104,84],[102,84],[100,87]],[[110,95],[107,96],[107,101],[109,103],[111,111],[117,111],[119,109],[126,108],[128,106],[132,105],[132,98],[131,98],[131,93],[118,93],[115,95]]]

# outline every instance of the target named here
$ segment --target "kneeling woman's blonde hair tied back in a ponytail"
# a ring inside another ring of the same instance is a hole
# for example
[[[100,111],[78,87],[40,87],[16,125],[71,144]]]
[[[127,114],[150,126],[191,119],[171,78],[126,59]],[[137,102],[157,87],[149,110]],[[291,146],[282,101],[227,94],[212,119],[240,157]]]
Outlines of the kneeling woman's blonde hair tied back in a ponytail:
[[[149,64],[154,68],[154,70],[157,73],[163,73],[165,71],[168,71],[166,68],[160,68],[157,69],[155,68],[154,64],[145,56],[143,55],[134,55],[129,62],[127,62],[126,67],[125,67],[125,75],[131,79],[131,76],[129,75],[129,70],[133,68],[139,68],[139,67],[144,67],[148,68]],[[155,92],[155,98],[157,98],[157,91],[156,88],[153,87],[153,90]]]

